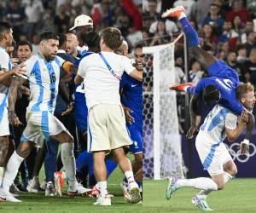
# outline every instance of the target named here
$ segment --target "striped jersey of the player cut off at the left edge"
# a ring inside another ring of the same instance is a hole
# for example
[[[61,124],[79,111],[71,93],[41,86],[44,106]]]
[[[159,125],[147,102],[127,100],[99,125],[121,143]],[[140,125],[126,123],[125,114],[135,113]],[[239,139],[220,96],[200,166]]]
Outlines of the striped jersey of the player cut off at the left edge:
[[[8,72],[11,69],[11,60],[8,53],[0,47],[0,71]],[[8,87],[0,83],[0,122],[3,118],[4,108],[8,107]]]

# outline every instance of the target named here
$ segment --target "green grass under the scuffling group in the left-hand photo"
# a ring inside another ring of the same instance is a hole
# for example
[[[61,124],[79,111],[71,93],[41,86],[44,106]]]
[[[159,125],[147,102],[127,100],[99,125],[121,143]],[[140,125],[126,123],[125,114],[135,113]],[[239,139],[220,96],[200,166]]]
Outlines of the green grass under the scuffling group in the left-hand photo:
[[[41,171],[43,176],[44,170]],[[143,212],[142,204],[126,204],[123,192],[119,187],[122,173],[115,170],[108,179],[108,191],[114,195],[111,206],[95,206],[96,199],[76,198],[68,199],[67,195],[61,198],[47,198],[44,192],[22,193],[18,199],[21,203],[1,202],[1,213],[84,213],[84,212]],[[40,178],[42,181],[42,178]]]

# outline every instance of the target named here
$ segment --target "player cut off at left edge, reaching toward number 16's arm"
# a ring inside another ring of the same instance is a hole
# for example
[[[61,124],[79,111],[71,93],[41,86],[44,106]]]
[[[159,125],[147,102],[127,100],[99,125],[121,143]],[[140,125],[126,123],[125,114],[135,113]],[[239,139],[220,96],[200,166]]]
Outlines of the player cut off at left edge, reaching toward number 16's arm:
[[[24,64],[11,69],[11,60],[6,48],[12,44],[12,41],[13,30],[11,26],[7,22],[0,22],[0,185],[9,146],[12,144],[9,138],[8,87],[12,76],[26,73],[22,71]]]

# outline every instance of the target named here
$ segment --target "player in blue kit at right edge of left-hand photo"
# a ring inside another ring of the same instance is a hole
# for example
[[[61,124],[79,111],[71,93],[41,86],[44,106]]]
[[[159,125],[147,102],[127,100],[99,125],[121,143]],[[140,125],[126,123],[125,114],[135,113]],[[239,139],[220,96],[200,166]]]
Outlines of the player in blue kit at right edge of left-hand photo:
[[[123,53],[125,54],[125,48]],[[143,43],[137,43],[135,46],[135,66],[138,71],[143,72]],[[132,170],[135,180],[141,187],[143,182],[143,83],[124,73],[120,81],[120,90],[126,125],[132,141],[130,151],[135,157]],[[129,199],[126,193],[128,191],[126,181],[125,179],[123,181],[123,190],[125,198]]]

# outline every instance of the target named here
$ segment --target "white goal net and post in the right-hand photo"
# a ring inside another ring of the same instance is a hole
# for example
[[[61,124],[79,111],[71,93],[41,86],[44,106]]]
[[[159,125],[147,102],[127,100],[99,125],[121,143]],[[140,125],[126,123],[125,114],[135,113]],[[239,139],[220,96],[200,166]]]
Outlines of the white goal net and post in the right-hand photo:
[[[143,178],[183,177],[174,83],[174,43],[145,47],[143,76]]]

